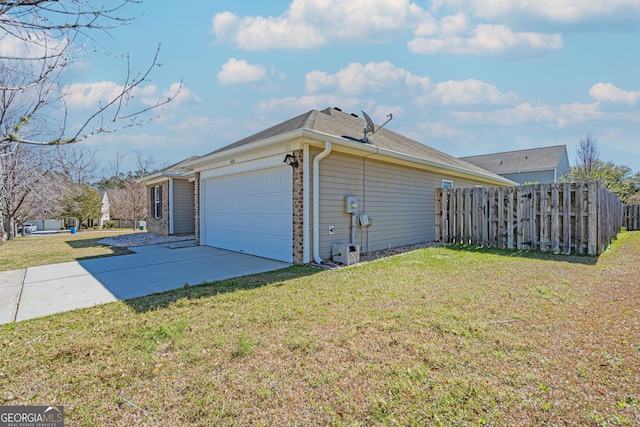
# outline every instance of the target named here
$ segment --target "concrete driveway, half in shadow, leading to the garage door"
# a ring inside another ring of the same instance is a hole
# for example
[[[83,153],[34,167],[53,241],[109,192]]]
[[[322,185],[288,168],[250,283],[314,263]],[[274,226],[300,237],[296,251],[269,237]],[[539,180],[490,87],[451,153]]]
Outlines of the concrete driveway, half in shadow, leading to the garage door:
[[[290,265],[209,246],[130,249],[135,254],[0,272],[0,324]]]

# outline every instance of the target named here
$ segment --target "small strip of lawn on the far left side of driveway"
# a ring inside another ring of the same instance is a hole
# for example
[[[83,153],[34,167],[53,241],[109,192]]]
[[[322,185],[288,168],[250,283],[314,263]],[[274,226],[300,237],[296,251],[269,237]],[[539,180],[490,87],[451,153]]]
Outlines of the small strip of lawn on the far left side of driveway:
[[[18,236],[14,240],[0,245],[0,271],[128,254],[131,252],[126,248],[97,243],[100,239],[127,233],[132,233],[132,230],[89,230],[76,234]]]

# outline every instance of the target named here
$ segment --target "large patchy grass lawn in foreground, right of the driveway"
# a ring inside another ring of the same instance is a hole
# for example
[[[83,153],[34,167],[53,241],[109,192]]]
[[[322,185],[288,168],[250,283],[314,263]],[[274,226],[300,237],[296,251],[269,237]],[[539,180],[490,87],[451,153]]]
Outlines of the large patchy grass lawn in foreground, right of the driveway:
[[[640,232],[423,249],[0,326],[0,405],[68,425],[640,425]]]

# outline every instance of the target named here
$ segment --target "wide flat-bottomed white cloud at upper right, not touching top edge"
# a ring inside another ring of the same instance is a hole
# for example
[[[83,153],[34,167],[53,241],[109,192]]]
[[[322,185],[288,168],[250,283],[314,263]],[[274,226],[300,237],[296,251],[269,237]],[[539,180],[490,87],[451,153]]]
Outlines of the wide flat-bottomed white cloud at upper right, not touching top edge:
[[[563,42],[560,34],[513,32],[504,25],[480,24],[470,34],[451,35],[451,30],[446,34],[441,31],[433,37],[416,37],[407,46],[421,54],[532,56],[560,49]]]

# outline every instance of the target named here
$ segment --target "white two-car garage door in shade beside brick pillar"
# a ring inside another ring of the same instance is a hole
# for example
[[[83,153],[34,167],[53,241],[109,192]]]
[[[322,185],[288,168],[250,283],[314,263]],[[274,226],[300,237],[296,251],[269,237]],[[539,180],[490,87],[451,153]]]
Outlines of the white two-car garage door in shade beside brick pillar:
[[[205,244],[293,261],[291,168],[205,181]]]

